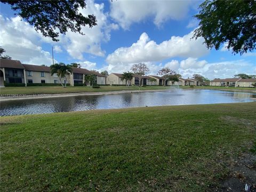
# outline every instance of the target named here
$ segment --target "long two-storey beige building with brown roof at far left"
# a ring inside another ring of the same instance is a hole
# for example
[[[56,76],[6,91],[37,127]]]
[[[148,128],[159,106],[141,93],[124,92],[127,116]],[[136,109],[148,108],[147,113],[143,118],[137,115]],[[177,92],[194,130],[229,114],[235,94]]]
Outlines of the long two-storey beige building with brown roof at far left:
[[[72,68],[72,73],[67,78],[61,78],[61,82],[69,83],[71,86],[84,84],[86,75],[95,75],[95,83],[104,85],[105,76],[83,68]],[[51,75],[51,68],[47,66],[22,64],[18,60],[0,59],[0,86],[8,83],[23,83],[25,86],[37,83],[59,84],[60,78],[57,74]]]

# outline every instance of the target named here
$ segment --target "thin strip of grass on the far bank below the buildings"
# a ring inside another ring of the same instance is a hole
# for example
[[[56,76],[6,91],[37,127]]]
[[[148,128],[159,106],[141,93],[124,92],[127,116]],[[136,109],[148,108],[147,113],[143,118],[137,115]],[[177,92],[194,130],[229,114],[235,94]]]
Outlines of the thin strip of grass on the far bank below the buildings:
[[[174,86],[175,87],[175,86]],[[173,89],[171,86],[146,86],[140,87],[140,90],[164,90]],[[180,86],[180,89],[191,89],[190,86]],[[256,91],[248,87],[218,87],[218,86],[195,86],[193,89],[227,89],[227,90],[249,90]],[[104,92],[104,91],[122,91],[139,90],[138,86],[100,86],[100,88],[91,89],[87,86],[28,86],[28,87],[2,87],[1,94],[54,94],[54,93],[79,93],[79,92]]]

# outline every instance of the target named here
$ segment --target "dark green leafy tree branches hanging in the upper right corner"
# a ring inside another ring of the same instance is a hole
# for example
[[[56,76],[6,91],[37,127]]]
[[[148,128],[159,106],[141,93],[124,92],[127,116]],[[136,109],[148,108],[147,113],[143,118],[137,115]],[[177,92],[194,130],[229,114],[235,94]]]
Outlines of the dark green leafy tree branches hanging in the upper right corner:
[[[199,6],[199,27],[193,38],[204,38],[208,49],[223,43],[233,53],[246,53],[256,47],[256,2],[206,0]]]

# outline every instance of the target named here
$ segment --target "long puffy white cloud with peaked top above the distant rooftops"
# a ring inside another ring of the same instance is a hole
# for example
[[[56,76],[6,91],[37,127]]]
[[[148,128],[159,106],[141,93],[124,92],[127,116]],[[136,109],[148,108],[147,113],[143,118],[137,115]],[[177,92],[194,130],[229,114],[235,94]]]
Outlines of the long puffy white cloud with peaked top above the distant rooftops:
[[[146,33],[142,33],[139,40],[130,47],[120,47],[114,53],[108,55],[106,61],[109,64],[153,62],[169,59],[172,57],[201,57],[209,51],[203,45],[204,40],[191,39],[193,31],[179,37],[172,36],[171,39],[157,44],[150,41]]]

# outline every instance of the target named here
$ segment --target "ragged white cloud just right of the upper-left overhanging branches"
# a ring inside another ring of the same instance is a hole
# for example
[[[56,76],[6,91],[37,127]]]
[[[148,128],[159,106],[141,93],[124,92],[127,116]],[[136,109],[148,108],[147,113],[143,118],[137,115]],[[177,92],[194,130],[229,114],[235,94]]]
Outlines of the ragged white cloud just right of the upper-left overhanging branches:
[[[66,36],[62,36],[67,52],[74,59],[83,60],[83,53],[103,57],[105,51],[101,49],[102,42],[110,40],[110,31],[118,29],[118,25],[108,21],[108,13],[104,13],[104,4],[97,4],[94,1],[86,1],[86,9],[79,10],[83,15],[94,14],[97,18],[97,26],[89,28],[82,27],[85,35],[68,31]]]

